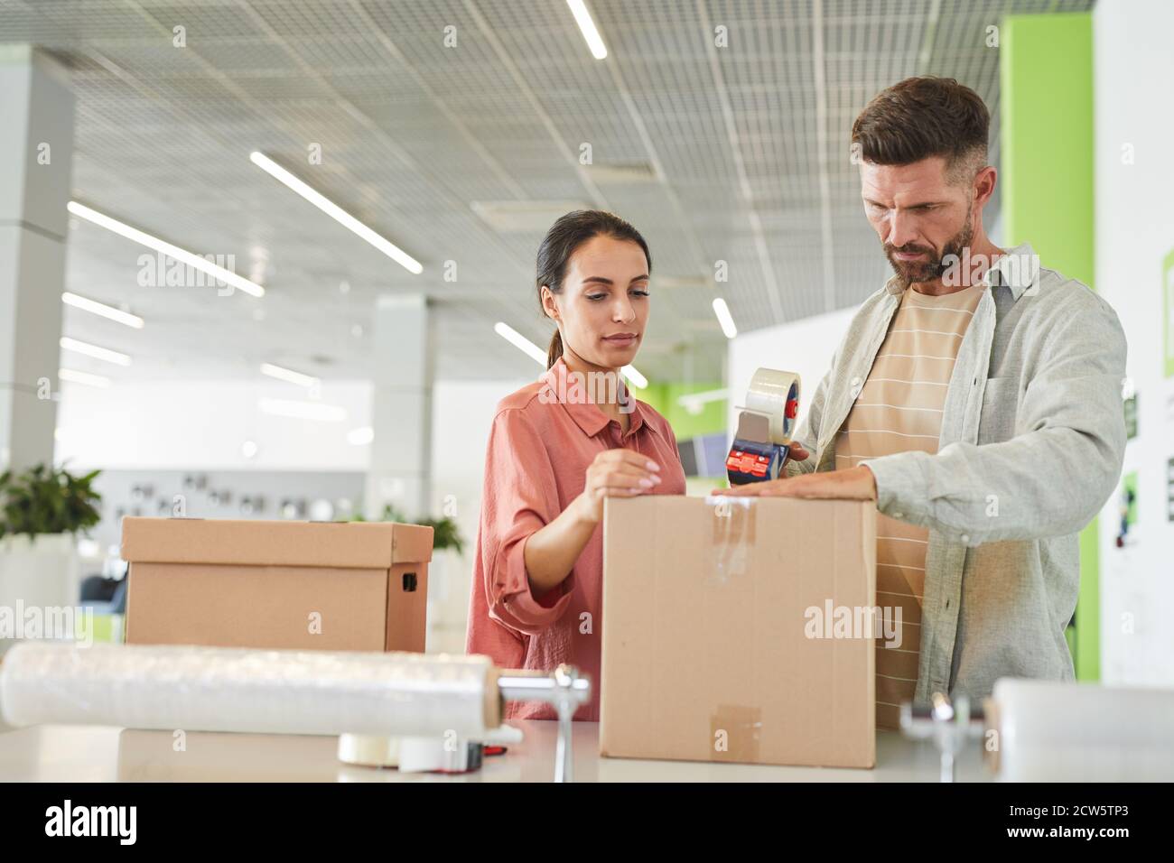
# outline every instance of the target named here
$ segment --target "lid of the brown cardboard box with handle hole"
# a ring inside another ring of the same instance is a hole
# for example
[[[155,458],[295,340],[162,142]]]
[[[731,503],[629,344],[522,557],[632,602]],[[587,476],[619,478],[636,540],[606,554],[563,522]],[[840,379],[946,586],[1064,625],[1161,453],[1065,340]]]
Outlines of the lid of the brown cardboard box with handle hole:
[[[122,559],[386,569],[432,559],[432,528],[390,521],[263,521],[126,517]]]

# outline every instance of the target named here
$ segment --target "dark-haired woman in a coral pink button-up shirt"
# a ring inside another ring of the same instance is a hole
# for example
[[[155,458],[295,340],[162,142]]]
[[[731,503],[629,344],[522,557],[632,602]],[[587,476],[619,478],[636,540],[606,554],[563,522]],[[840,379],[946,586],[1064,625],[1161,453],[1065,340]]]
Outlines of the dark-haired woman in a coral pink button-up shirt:
[[[620,370],[648,324],[648,244],[609,213],[569,213],[538,250],[538,298],[558,330],[547,371],[502,399],[490,432],[470,598],[468,653],[500,668],[591,675],[599,719],[603,499],[683,494],[668,422]],[[512,719],[555,719],[515,702]]]

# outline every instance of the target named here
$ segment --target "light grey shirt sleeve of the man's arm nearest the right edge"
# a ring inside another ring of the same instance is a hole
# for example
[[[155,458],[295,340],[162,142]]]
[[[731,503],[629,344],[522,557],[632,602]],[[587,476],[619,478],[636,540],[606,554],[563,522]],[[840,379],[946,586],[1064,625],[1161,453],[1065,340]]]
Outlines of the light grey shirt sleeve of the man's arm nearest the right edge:
[[[1067,310],[1043,339],[1010,440],[951,443],[936,454],[865,459],[877,508],[967,546],[1074,533],[1121,472],[1126,341],[1099,298]]]

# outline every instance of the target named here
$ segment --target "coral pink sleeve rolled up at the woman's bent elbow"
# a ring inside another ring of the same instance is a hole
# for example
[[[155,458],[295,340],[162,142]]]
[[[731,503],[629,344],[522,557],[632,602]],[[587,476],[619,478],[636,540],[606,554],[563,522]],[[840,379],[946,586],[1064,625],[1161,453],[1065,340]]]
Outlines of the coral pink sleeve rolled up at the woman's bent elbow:
[[[541,632],[571,602],[574,572],[541,596],[533,594],[526,574],[526,540],[560,512],[554,468],[538,430],[521,411],[501,411],[485,459],[478,565],[490,616],[515,632]]]

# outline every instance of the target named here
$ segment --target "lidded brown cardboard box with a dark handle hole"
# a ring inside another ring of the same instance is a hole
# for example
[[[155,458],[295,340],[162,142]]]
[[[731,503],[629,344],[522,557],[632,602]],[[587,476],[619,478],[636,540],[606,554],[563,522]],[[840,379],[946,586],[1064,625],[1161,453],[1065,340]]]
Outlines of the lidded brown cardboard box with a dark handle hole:
[[[128,517],[122,558],[127,643],[424,652],[431,527]]]

